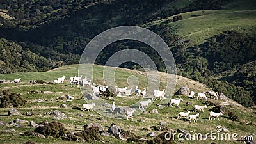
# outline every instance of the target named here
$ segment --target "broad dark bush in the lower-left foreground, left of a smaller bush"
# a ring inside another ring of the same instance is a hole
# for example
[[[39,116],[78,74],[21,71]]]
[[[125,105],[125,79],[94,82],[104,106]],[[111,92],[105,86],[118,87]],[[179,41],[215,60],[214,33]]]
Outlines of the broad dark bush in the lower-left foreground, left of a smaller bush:
[[[60,122],[52,121],[44,124],[43,127],[37,127],[34,131],[47,137],[63,138],[67,129]]]

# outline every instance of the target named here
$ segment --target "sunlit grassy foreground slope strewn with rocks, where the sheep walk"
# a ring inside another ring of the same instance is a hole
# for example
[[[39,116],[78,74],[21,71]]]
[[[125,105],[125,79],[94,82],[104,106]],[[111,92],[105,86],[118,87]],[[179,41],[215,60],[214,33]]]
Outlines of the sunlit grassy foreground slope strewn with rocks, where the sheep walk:
[[[102,66],[95,66],[96,76],[102,75]],[[78,111],[75,109],[72,109],[72,106],[79,106],[81,107],[81,104],[85,103],[81,92],[79,88],[71,88],[70,84],[65,81],[63,84],[30,84],[26,81],[32,80],[32,79],[44,79],[45,81],[52,81],[52,79],[55,79],[56,77],[61,76],[74,76],[77,74],[77,65],[67,65],[65,67],[60,67],[55,70],[51,70],[49,72],[36,72],[36,73],[16,73],[16,74],[4,74],[0,75],[0,79],[15,79],[17,77],[21,77],[22,80],[19,84],[17,83],[10,83],[10,84],[0,84],[0,90],[6,90],[9,89],[10,92],[15,93],[21,93],[22,96],[28,101],[25,106],[20,106],[16,109],[18,109],[24,116],[7,116],[7,111],[10,108],[0,108],[0,119],[4,122],[8,123],[11,120],[15,120],[15,118],[20,118],[23,120],[33,120],[36,123],[47,121],[51,122],[53,117],[51,115],[46,115],[46,112],[54,111],[56,109],[60,110],[61,112],[65,113],[67,115],[67,118],[64,120],[58,120],[59,122],[63,123],[65,125],[65,128],[69,131],[75,131],[79,132],[83,130],[82,126],[85,124],[88,124],[90,122],[99,122],[108,129],[108,126],[111,125],[111,123],[115,123],[116,125],[122,127],[122,129],[125,129],[129,131],[129,127],[133,127],[133,131],[138,136],[143,136],[147,139],[151,139],[150,137],[147,137],[146,135],[149,132],[152,132],[150,127],[156,126],[159,122],[164,121],[170,124],[168,126],[169,129],[177,130],[180,129],[186,129],[188,131],[193,132],[202,132],[202,134],[206,134],[207,132],[216,132],[215,127],[217,125],[221,125],[222,127],[226,127],[230,133],[237,132],[239,136],[247,136],[250,133],[255,133],[255,125],[246,125],[246,122],[253,122],[255,121],[255,114],[253,114],[252,108],[244,108],[241,105],[234,105],[234,106],[227,106],[231,111],[233,111],[236,115],[241,118],[241,120],[244,122],[244,124],[239,124],[239,122],[233,122],[228,119],[227,115],[220,116],[220,121],[209,121],[208,120],[208,113],[211,111],[211,108],[213,106],[208,105],[208,108],[205,109],[205,113],[201,113],[198,117],[198,122],[191,122],[188,123],[187,120],[177,120],[177,115],[180,111],[186,111],[186,109],[192,110],[194,104],[203,105],[204,102],[202,100],[196,100],[196,99],[188,99],[186,97],[182,96],[182,99],[184,99],[183,102],[180,103],[180,108],[177,107],[168,107],[160,110],[159,107],[156,105],[160,102],[160,100],[155,100],[154,104],[150,106],[150,108],[147,109],[147,111],[151,111],[152,109],[157,109],[159,111],[159,114],[152,114],[152,113],[143,113],[139,116],[134,117],[132,120],[118,120],[118,119],[111,119],[106,118],[106,122],[102,122],[98,120],[97,118],[100,117],[100,115],[96,112],[88,112],[88,111]],[[146,77],[143,75],[143,72],[138,72],[135,70],[127,70],[118,68],[116,72],[116,77],[125,78],[127,76],[137,76],[139,81],[144,81]],[[161,79],[164,79],[164,73],[161,73]],[[102,80],[100,77],[98,77],[98,81],[95,81],[97,84],[99,81]],[[118,81],[118,79],[117,79]],[[120,81],[120,80],[119,80]],[[164,81],[163,81],[164,83]],[[191,90],[194,90],[195,93],[197,92],[204,92],[205,90],[209,90],[204,84],[197,83],[196,81],[192,81],[190,79],[187,79],[185,77],[177,76],[177,89],[180,88],[180,86],[189,86]],[[145,86],[140,84],[141,87]],[[43,93],[36,93],[33,95],[28,95],[28,90],[50,90],[51,94],[43,94]],[[87,89],[89,93],[92,92],[89,88]],[[61,93],[60,93],[61,92]],[[148,92],[150,93],[150,92]],[[72,95],[75,99],[73,99],[72,102],[63,102],[63,100],[53,100],[50,99],[56,99],[57,97],[60,97],[61,95]],[[175,95],[174,97],[177,97]],[[44,102],[36,102],[38,99],[43,99]],[[45,101],[50,100],[50,101]],[[115,103],[117,106],[127,106],[129,104],[132,104],[132,102],[135,102],[138,100],[138,98],[134,97],[115,97]],[[216,100],[211,100],[212,102],[218,104],[219,102],[216,102]],[[110,102],[110,101],[109,101]],[[186,102],[191,102],[191,105],[187,105]],[[230,101],[232,102],[232,101]],[[61,104],[67,104],[67,108],[60,108]],[[234,102],[232,102],[234,103]],[[234,103],[236,104],[236,103]],[[34,113],[41,113],[42,116],[34,115],[34,116],[26,116],[26,112],[31,111]],[[81,117],[77,115],[77,113],[81,113],[84,115],[84,117]],[[194,113],[194,112],[191,112]],[[93,115],[92,115],[93,114]],[[145,122],[140,122],[140,119],[145,120]],[[0,126],[0,131],[3,131],[4,129],[11,129],[14,128],[17,132],[13,132],[12,134],[8,133],[1,133],[0,134],[0,143],[24,143],[28,140],[35,141],[36,143],[84,143],[84,142],[70,142],[70,141],[63,141],[60,138],[37,138],[35,136],[22,136],[21,133],[24,133],[28,130],[33,130],[33,128],[29,127],[28,124],[24,124],[24,127],[18,128],[13,125],[6,126]],[[143,128],[147,128],[148,130],[142,131]],[[159,131],[154,131],[157,134],[160,134]],[[192,133],[193,133],[192,132]],[[108,143],[127,143],[127,141],[123,140],[117,140],[116,138],[109,137],[109,136],[102,136],[104,138],[104,141],[109,141]],[[198,143],[199,141],[185,141],[180,142],[179,140],[175,140],[176,143]],[[200,141],[200,143],[241,143],[241,141],[214,141],[214,140],[205,140]],[[95,141],[95,143],[100,143]]]

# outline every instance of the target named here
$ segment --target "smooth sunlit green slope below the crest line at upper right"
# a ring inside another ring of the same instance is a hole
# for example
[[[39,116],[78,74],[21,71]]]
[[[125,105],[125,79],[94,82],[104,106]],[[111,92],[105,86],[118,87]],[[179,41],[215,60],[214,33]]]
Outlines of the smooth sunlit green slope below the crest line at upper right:
[[[172,22],[168,26],[183,38],[191,40],[191,44],[200,44],[206,38],[223,31],[236,30],[253,33],[255,31],[256,10],[221,10],[182,13],[185,19]],[[190,15],[190,17],[189,17]],[[198,15],[193,17],[193,15]]]

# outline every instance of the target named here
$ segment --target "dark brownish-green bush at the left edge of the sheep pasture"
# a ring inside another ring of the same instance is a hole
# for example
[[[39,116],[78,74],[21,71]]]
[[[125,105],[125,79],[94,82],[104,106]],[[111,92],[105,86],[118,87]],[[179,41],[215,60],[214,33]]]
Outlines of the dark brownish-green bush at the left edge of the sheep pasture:
[[[3,90],[0,92],[1,108],[24,106],[25,104],[26,100],[19,93],[10,93],[9,90]]]

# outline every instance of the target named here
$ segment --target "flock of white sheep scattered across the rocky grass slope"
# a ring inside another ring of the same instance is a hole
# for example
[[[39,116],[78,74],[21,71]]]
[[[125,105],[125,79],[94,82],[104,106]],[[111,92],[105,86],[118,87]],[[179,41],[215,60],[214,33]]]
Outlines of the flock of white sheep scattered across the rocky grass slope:
[[[91,87],[92,90],[93,90],[93,95],[100,94],[102,92],[105,92],[108,89],[108,86],[102,86],[102,85],[96,86],[96,84],[91,83],[91,80],[88,80],[87,77],[85,77],[84,79],[82,79],[82,77],[83,76],[70,77],[69,83],[71,84],[71,86],[76,85],[77,87],[79,87],[81,85],[81,86]],[[58,79],[54,80],[54,83],[56,83],[56,84],[63,83],[64,80],[65,80],[65,76],[59,77]],[[132,92],[132,88],[127,89],[127,87],[118,88],[118,86],[115,86],[115,89],[116,89],[117,95],[131,95],[134,92],[135,95],[138,95],[138,96],[140,95],[140,97],[145,97],[146,93],[147,93],[146,88],[143,88],[143,90],[140,90],[140,89],[138,89],[138,86],[136,86],[136,88],[133,92]],[[219,98],[216,92],[207,91],[206,93],[197,93],[196,99],[197,100],[202,99],[202,100],[207,101],[208,98],[205,94],[208,94],[210,98],[213,98],[213,99],[216,99],[216,100],[218,100],[218,98]],[[154,90],[152,99],[162,99],[164,97],[164,95],[165,95],[164,89],[163,90]],[[194,98],[195,97],[195,92],[191,91],[191,93],[189,93],[188,97]],[[179,107],[179,104],[180,104],[181,101],[183,101],[182,98],[171,99],[170,102],[169,102],[169,106],[173,107],[172,104],[176,104],[176,106]],[[151,102],[150,99],[145,100],[145,101],[141,101],[139,109],[140,108],[147,109],[150,102]],[[88,111],[90,111],[90,109],[91,109],[93,111],[93,106],[95,106],[95,103],[83,104],[83,109],[86,109]],[[115,111],[115,108],[116,108],[115,102],[113,102],[113,104],[111,106],[111,112]],[[188,118],[189,122],[191,122],[191,120],[193,120],[193,122],[196,122],[197,117],[199,116],[201,111],[203,111],[203,113],[204,113],[204,108],[207,108],[206,104],[204,106],[195,105],[195,106],[193,106],[193,110],[195,112],[199,111],[199,113],[196,113],[195,115],[189,115],[190,111],[180,112],[177,119],[179,119],[179,118]],[[126,118],[127,119],[132,118],[133,113],[134,113],[134,109],[132,109],[131,111],[125,111]],[[214,118],[214,120],[215,120],[215,118],[218,118],[218,120],[220,120],[219,119],[220,115],[223,115],[223,113],[221,113],[221,112],[220,113],[215,113],[215,112],[211,111],[209,113],[209,120],[211,120],[212,117]]]

